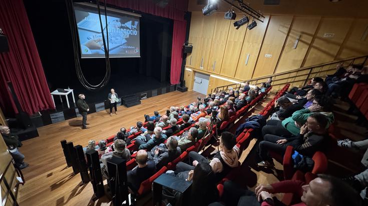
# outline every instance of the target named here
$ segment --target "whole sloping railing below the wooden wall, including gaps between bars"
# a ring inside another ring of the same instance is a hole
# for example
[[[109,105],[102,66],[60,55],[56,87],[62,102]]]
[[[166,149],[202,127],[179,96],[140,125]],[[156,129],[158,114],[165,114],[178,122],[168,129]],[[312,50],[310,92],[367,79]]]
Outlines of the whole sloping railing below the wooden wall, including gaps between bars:
[[[336,71],[336,64],[342,63],[343,66],[348,66],[351,64],[364,64],[366,63],[368,55],[352,57],[343,60],[331,61],[328,63],[301,67],[298,69],[270,74],[262,77],[257,77],[249,79],[240,83],[234,83],[224,86],[219,86],[211,89],[212,93],[218,93],[219,91],[227,91],[230,87],[233,90],[238,90],[243,87],[242,83],[249,81],[251,85],[257,85],[261,82],[266,82],[269,77],[272,77],[272,88],[278,88],[279,86],[284,86],[286,83],[290,83],[290,88],[295,85],[305,85],[309,79],[316,76],[324,76],[327,74],[333,74]]]

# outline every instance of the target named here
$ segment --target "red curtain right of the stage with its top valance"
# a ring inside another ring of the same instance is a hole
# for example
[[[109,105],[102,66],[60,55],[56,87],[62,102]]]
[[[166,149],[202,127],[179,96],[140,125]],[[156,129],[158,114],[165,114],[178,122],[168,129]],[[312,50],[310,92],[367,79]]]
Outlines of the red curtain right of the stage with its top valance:
[[[106,2],[118,7],[130,8],[174,20],[170,83],[179,84],[183,61],[182,47],[186,32],[184,14],[188,10],[188,0],[170,0],[165,8],[157,6],[152,0],[106,0]]]

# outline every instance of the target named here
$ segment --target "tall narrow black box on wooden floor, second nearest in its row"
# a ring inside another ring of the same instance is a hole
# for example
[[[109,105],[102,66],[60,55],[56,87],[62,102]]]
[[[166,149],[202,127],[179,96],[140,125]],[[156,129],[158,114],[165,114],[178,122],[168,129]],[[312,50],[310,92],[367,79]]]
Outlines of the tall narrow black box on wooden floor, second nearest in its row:
[[[94,201],[96,201],[96,199],[105,195],[98,152],[88,151],[86,152],[86,158],[87,166],[90,170],[90,179],[93,186],[93,192],[95,193]]]

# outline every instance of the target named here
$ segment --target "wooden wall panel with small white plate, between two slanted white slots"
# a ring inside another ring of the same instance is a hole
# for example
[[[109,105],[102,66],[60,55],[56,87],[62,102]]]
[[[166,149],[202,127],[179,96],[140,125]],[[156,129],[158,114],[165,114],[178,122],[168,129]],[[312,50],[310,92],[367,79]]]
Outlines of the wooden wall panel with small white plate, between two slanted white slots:
[[[292,16],[271,16],[252,78],[273,74],[292,18]],[[266,57],[266,54],[272,57]]]

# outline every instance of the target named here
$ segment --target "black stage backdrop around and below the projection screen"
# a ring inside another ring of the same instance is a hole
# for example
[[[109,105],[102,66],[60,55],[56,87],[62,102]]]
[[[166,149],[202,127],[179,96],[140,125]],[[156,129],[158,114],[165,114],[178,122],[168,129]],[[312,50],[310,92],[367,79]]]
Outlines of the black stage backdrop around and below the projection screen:
[[[51,90],[69,86],[76,90],[75,95],[87,93],[93,96],[90,101],[97,102],[107,98],[111,87],[119,88],[117,92],[121,96],[169,84],[172,19],[141,13],[141,57],[111,58],[111,79],[107,87],[87,92],[76,75],[65,1],[24,0],[24,4]],[[100,83],[106,71],[105,59],[81,59],[80,62],[88,81]]]

